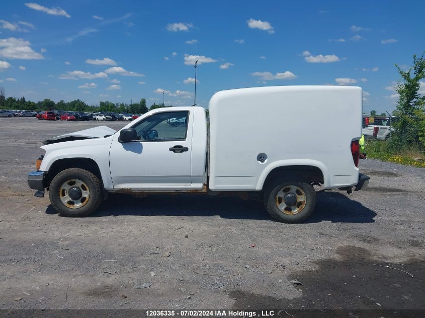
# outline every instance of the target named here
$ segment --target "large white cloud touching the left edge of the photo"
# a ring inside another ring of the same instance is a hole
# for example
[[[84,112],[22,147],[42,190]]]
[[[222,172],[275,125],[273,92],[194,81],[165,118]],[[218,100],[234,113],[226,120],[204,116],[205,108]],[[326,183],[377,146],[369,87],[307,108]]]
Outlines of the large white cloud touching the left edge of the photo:
[[[0,39],[0,57],[17,60],[41,60],[44,56],[35,52],[30,41],[24,39]]]

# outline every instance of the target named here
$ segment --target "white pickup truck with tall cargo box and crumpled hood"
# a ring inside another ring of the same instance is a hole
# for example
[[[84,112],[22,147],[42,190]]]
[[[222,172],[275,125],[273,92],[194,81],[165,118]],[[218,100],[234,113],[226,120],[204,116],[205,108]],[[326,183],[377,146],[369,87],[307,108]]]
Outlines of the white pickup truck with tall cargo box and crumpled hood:
[[[326,125],[328,114],[349,119]],[[219,91],[204,108],[150,111],[119,131],[106,126],[46,140],[30,188],[69,217],[88,216],[108,193],[248,192],[280,222],[313,211],[315,189],[349,193],[359,173],[362,89],[275,86]],[[168,125],[172,119],[185,125]],[[183,120],[182,120],[183,121]]]

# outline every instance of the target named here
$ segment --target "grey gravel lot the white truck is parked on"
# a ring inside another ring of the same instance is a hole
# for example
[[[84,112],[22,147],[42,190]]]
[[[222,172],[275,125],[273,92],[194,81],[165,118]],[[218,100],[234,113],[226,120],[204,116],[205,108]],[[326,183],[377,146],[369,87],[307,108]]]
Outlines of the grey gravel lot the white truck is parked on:
[[[425,169],[361,160],[369,188],[297,225],[238,197],[115,194],[72,219],[33,196],[42,140],[125,124],[0,119],[1,308],[425,309]]]

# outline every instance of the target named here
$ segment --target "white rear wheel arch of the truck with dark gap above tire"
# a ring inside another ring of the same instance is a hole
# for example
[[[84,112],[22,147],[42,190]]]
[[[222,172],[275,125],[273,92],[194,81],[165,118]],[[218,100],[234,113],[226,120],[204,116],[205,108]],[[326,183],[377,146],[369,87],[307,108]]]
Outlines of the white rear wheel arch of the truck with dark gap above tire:
[[[269,165],[261,174],[256,189],[263,190],[271,180],[286,175],[292,175],[310,183],[320,182],[324,186],[329,184],[327,169],[323,163],[312,160],[291,160]]]

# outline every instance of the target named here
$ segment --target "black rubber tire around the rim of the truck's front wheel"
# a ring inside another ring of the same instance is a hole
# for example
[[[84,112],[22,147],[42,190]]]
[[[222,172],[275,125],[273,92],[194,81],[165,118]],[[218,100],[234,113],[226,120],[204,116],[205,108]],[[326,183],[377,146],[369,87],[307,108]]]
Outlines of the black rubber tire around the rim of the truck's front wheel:
[[[63,183],[71,179],[79,179],[87,184],[90,196],[83,206],[79,208],[70,208],[62,203],[59,195],[60,188]],[[69,168],[58,173],[50,183],[49,199],[53,208],[58,211],[61,216],[80,218],[87,217],[92,214],[102,203],[103,186],[102,182],[92,172],[80,168]]]

